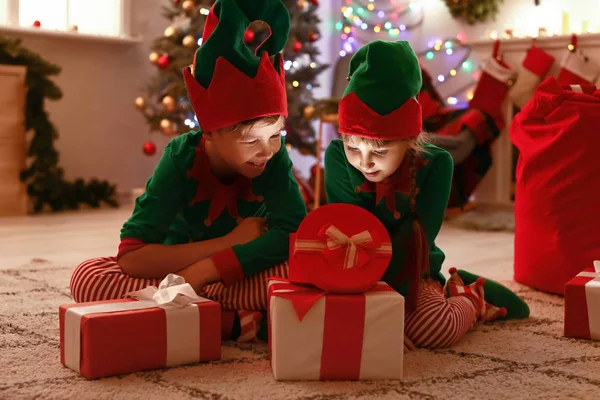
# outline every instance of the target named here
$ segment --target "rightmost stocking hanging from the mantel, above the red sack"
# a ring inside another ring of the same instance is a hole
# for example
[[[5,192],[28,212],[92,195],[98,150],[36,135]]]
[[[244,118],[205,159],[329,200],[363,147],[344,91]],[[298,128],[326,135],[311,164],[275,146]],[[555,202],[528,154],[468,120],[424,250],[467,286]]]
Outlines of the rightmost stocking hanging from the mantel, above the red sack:
[[[594,84],[600,75],[598,65],[581,51],[577,51],[575,35],[571,38],[569,52],[565,54],[560,67],[556,80],[561,86]]]

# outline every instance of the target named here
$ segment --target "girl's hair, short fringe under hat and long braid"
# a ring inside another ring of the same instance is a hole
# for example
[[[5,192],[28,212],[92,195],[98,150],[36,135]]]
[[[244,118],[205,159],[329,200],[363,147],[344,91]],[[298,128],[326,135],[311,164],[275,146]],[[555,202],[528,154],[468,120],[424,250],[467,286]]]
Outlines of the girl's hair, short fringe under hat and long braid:
[[[409,157],[407,161],[410,162],[410,192],[408,193],[408,200],[412,217],[412,235],[408,242],[409,252],[405,268],[393,276],[388,283],[392,287],[398,287],[408,279],[409,287],[406,297],[406,308],[408,310],[416,308],[421,279],[429,275],[429,245],[427,243],[427,236],[425,236],[425,229],[423,229],[423,225],[419,222],[416,201],[419,192],[417,188],[417,160],[421,154],[428,152],[425,147],[425,144],[429,143],[428,139],[429,137],[425,132],[416,138],[403,139],[412,141],[411,147],[406,153],[406,157]],[[346,143],[363,142],[373,147],[383,147],[391,142],[390,140],[368,139],[350,135],[342,135],[342,140]]]

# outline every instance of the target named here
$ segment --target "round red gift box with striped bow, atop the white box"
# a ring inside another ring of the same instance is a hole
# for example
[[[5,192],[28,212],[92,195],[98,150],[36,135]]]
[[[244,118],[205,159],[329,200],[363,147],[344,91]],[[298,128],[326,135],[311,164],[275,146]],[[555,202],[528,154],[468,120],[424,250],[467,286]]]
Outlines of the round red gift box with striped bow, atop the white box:
[[[328,204],[290,235],[289,279],[329,293],[362,293],[383,277],[392,258],[385,226],[367,210]]]

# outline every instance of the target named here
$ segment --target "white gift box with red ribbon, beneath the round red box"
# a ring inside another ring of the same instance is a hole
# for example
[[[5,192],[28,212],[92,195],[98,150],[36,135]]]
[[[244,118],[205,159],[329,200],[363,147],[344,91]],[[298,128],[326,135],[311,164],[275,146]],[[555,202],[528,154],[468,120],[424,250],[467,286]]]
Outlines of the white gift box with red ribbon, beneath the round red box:
[[[387,284],[347,295],[273,279],[268,296],[276,380],[402,379],[404,298]]]

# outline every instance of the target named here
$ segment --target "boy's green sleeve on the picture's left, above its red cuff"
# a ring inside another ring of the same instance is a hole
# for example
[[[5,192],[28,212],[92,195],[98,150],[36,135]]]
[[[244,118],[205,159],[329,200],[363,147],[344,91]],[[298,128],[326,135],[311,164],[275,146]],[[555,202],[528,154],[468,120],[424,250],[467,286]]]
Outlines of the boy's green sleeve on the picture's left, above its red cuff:
[[[146,183],[146,192],[138,197],[132,216],[121,229],[121,240],[163,243],[182,204],[184,179],[169,143]]]

